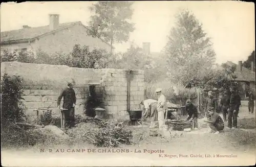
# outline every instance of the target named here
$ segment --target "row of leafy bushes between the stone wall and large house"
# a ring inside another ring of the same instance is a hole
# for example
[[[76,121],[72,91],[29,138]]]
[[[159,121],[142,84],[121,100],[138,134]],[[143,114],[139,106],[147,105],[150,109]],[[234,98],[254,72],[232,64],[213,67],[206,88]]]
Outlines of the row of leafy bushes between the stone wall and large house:
[[[22,63],[67,65],[78,68],[106,68],[109,64],[112,64],[110,56],[110,53],[103,49],[90,51],[88,45],[80,46],[75,44],[69,54],[56,52],[49,55],[42,50],[38,50],[34,55],[32,52],[4,50],[3,54],[1,54],[1,62],[17,61]]]

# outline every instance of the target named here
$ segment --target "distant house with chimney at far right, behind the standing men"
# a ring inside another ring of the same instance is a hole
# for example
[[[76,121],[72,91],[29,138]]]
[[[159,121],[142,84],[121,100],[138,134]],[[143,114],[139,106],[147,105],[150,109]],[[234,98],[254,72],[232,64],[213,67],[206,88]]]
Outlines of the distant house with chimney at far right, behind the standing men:
[[[235,81],[241,83],[240,96],[242,99],[248,96],[248,92],[250,89],[255,89],[255,72],[253,71],[254,63],[251,62],[252,70],[247,69],[242,66],[242,61],[239,61],[238,64],[235,64],[231,61],[227,61],[225,63],[228,66],[236,66],[237,69],[234,72],[237,76]]]

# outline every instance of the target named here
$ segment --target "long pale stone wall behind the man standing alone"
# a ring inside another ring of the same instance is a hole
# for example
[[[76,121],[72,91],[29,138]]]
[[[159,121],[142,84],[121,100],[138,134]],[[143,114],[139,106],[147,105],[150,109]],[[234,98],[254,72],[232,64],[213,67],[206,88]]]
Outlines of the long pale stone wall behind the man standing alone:
[[[57,107],[57,98],[67,82],[74,81],[77,103],[76,114],[85,112],[89,99],[90,85],[95,85],[97,97],[101,100],[110,118],[129,118],[127,113],[127,74],[131,76],[131,109],[138,108],[144,100],[144,72],[142,70],[86,69],[64,65],[30,64],[19,62],[1,63],[1,77],[4,73],[20,76],[25,87],[24,104],[26,114],[35,115],[33,109]],[[56,112],[56,111],[55,111]]]

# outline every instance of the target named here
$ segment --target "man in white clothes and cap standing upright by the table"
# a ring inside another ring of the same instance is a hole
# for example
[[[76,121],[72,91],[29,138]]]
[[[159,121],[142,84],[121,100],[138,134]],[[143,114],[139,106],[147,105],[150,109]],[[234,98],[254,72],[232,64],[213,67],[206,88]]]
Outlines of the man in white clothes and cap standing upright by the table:
[[[158,112],[158,124],[159,129],[162,130],[164,127],[164,113],[166,112],[166,98],[162,94],[162,89],[156,89],[156,93],[158,96],[157,101],[157,112]]]

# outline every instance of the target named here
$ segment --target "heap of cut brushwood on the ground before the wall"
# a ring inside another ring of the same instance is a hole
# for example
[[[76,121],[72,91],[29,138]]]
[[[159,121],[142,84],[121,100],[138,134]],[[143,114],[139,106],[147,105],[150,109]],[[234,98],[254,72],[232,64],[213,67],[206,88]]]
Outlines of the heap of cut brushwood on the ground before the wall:
[[[93,117],[76,115],[76,127],[67,133],[78,142],[86,142],[97,147],[113,148],[119,144],[130,145],[132,142],[131,130]]]

